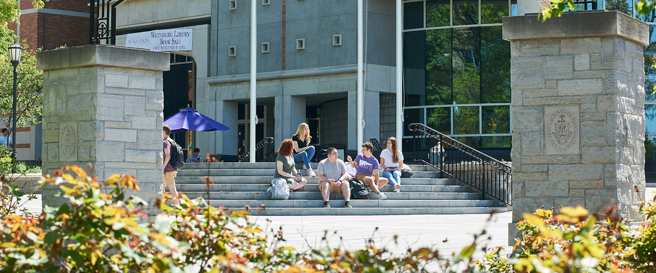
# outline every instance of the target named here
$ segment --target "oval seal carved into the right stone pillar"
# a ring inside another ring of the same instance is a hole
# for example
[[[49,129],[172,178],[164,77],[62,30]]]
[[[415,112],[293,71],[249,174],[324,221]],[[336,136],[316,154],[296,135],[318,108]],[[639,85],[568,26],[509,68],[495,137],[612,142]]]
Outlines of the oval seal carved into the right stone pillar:
[[[569,110],[560,108],[549,117],[546,135],[551,146],[560,152],[565,152],[579,137],[579,123]]]

